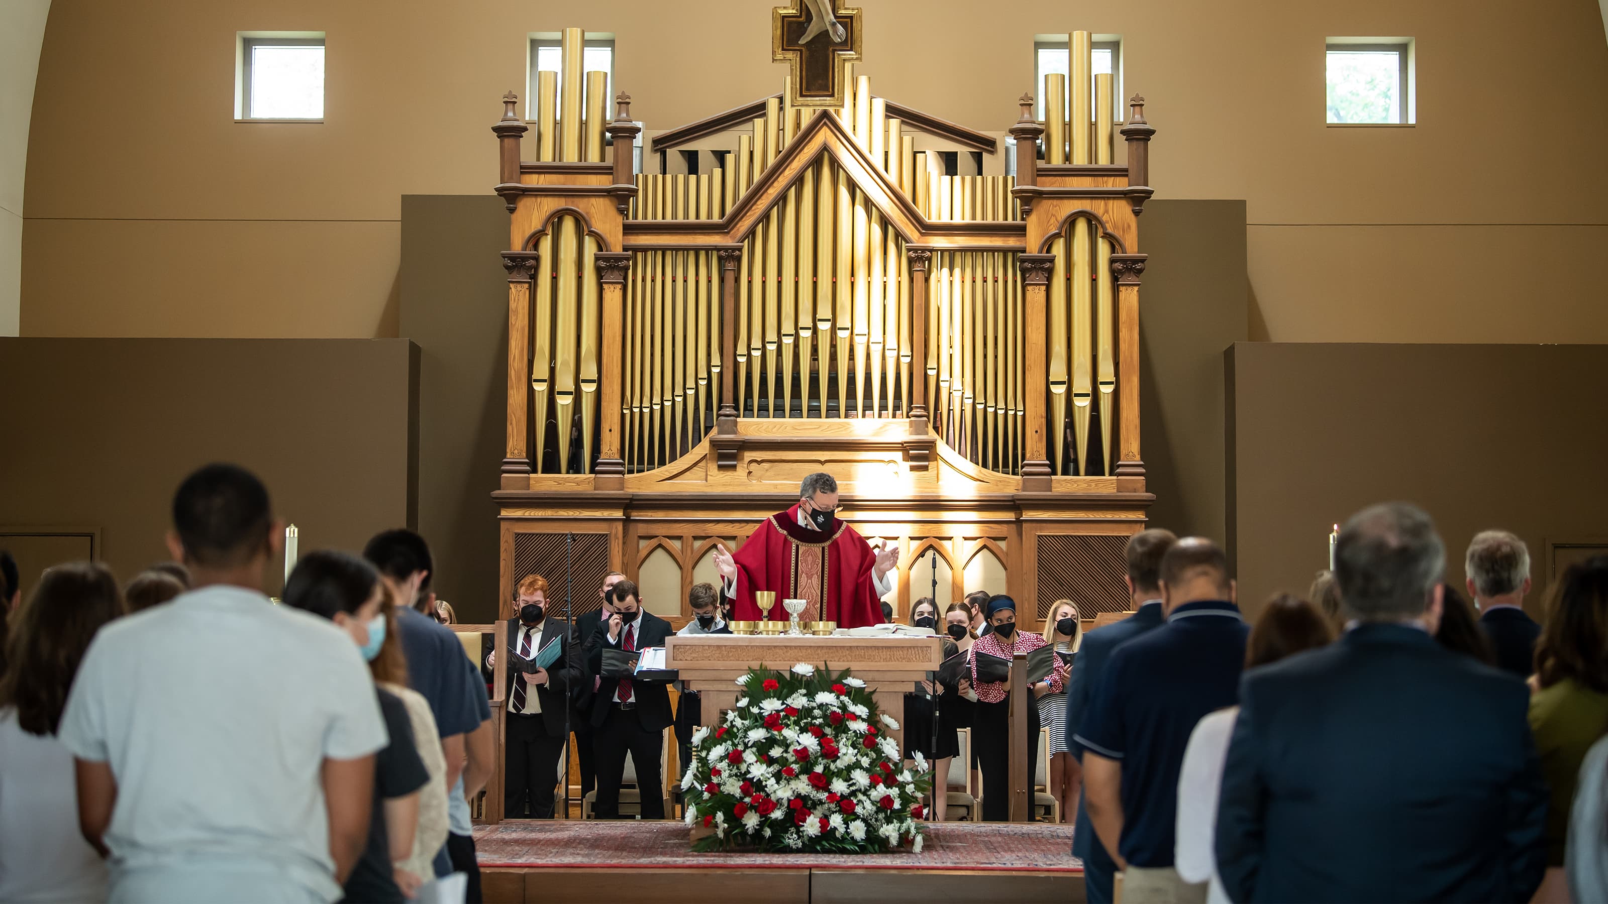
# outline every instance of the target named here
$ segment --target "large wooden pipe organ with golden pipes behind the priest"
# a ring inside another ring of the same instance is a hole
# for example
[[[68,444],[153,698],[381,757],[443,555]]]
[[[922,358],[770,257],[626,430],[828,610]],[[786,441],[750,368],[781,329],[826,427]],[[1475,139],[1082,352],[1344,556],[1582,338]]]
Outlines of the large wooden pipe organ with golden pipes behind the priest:
[[[790,76],[645,148],[658,164],[720,137],[695,154],[716,166],[687,174],[635,172],[629,97],[608,109],[580,29],[561,45],[534,142],[513,93],[492,127],[511,214],[503,600],[531,573],[561,600],[572,568],[576,610],[595,611],[617,569],[683,624],[716,544],[828,471],[847,520],[904,550],[900,616],[934,584],[939,610],[1003,590],[1034,621],[1063,597],[1085,619],[1127,606],[1122,545],[1153,499],[1137,230],[1153,129],[1138,97],[1114,121],[1089,32],[1071,76],[1039,87],[1045,119],[1024,95],[1005,138],[841,64],[831,106]],[[950,172],[1010,151],[1015,175]]]

